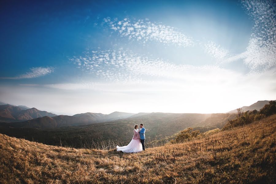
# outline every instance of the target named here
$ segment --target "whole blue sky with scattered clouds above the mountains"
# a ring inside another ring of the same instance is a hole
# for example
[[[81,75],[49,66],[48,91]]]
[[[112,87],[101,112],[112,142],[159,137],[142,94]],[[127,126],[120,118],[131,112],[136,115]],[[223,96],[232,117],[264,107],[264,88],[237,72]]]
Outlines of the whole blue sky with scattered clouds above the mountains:
[[[0,101],[56,114],[276,100],[275,1],[1,1]]]

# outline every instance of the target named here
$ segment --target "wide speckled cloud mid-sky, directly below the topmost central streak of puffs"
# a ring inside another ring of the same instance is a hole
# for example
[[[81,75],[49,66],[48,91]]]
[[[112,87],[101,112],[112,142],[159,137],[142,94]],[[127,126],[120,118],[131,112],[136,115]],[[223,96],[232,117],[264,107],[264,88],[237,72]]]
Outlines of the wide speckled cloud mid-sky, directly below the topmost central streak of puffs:
[[[71,60],[83,71],[113,82],[189,79],[189,71],[217,68],[207,65],[196,67],[188,64],[174,64],[160,58],[138,56],[122,49],[89,51],[84,56],[74,57]]]

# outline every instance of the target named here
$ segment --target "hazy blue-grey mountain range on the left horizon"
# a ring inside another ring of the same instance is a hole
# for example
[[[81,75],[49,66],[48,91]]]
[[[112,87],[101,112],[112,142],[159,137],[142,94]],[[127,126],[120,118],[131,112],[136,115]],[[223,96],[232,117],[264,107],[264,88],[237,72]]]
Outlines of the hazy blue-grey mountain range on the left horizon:
[[[8,123],[9,126],[18,128],[57,128],[61,126],[76,126],[114,121],[135,115],[134,113],[113,112],[102,113],[81,113],[74,116],[56,115],[47,111],[40,111],[36,108],[29,108],[20,105],[0,105],[0,122]]]

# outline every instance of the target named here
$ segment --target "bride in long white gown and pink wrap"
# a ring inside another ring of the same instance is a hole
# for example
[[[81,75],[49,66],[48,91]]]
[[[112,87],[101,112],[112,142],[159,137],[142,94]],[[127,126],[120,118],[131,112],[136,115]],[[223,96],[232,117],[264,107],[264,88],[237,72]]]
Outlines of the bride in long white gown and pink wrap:
[[[125,153],[137,153],[143,151],[142,143],[140,141],[140,133],[139,133],[138,125],[134,126],[134,135],[132,140],[126,146],[117,146],[117,151],[123,151]]]

